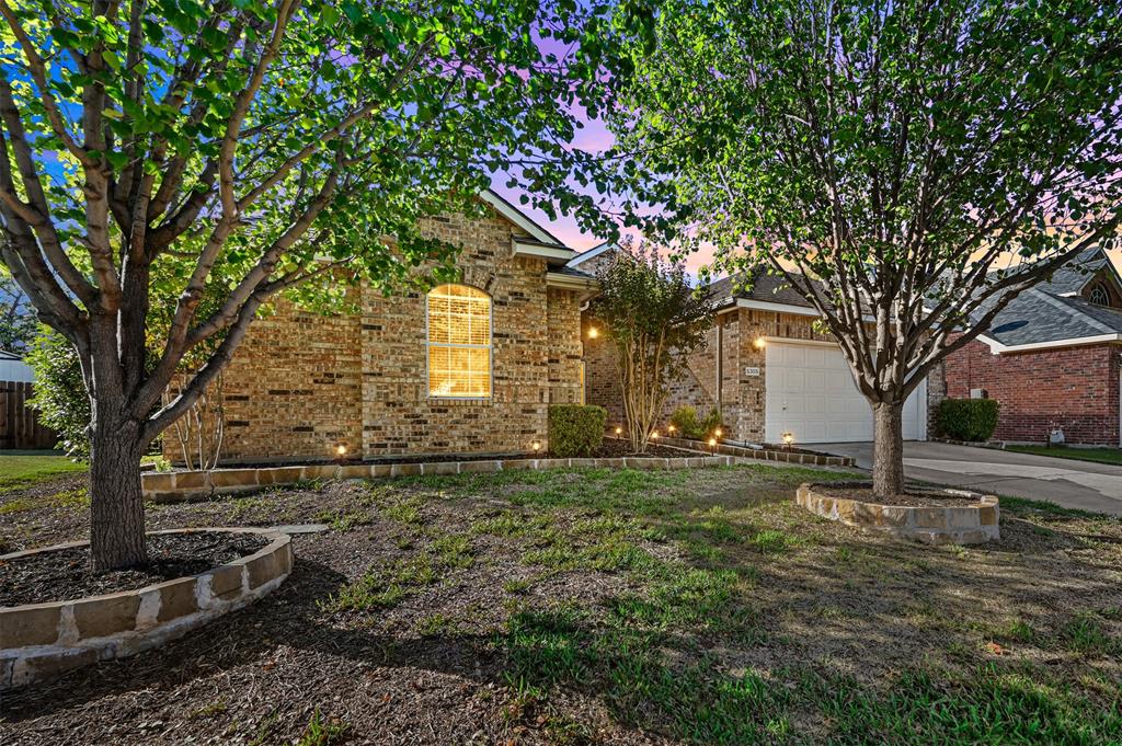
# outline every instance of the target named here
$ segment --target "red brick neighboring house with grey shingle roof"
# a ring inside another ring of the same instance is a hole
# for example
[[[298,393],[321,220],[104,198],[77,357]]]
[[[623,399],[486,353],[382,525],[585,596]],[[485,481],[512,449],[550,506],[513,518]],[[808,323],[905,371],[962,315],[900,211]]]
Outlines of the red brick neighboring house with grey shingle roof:
[[[1119,445],[1120,363],[1122,277],[1091,249],[1014,298],[929,383],[1000,402],[994,440],[1041,443],[1061,429],[1069,443]]]

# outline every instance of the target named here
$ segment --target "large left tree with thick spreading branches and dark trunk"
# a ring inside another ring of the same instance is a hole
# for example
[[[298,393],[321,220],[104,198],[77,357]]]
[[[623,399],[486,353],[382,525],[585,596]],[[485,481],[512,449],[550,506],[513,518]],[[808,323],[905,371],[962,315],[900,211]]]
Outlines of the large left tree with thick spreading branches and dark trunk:
[[[0,0],[0,248],[81,360],[95,569],[146,559],[141,454],[270,298],[330,306],[340,280],[450,275],[457,247],[420,224],[476,214],[493,172],[592,220],[594,201],[563,183],[595,167],[567,147],[577,112],[595,116],[605,81],[622,80],[596,44],[604,12]],[[220,302],[204,311],[212,288]],[[158,303],[171,307],[153,340]],[[181,365],[215,339],[201,365]]]

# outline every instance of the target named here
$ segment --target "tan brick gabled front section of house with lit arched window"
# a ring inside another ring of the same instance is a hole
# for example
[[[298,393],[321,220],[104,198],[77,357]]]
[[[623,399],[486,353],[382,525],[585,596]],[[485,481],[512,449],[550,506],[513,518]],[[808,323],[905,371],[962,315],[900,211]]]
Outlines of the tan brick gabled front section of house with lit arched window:
[[[591,279],[574,252],[494,193],[489,217],[438,218],[462,247],[460,283],[384,297],[357,313],[280,302],[224,372],[223,461],[525,453],[548,448],[550,404],[583,397],[580,306]],[[165,438],[168,458],[182,458]]]

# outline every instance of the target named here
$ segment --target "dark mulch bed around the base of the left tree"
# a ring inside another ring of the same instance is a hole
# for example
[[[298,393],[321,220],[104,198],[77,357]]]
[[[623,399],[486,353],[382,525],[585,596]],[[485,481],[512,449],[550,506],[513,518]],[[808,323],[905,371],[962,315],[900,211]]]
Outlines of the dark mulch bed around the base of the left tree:
[[[88,546],[0,560],[0,606],[68,601],[136,590],[206,572],[252,554],[267,543],[257,534],[159,534],[148,537],[147,564],[104,572],[90,569]]]

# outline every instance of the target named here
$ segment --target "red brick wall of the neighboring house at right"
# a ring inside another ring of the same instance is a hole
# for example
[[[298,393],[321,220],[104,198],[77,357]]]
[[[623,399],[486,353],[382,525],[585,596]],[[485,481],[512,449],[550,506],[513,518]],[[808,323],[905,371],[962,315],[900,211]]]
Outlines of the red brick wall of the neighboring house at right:
[[[1043,442],[1058,426],[1070,443],[1118,445],[1120,357],[1116,344],[997,356],[975,341],[947,358],[946,392],[983,388],[1000,402],[994,440]]]

